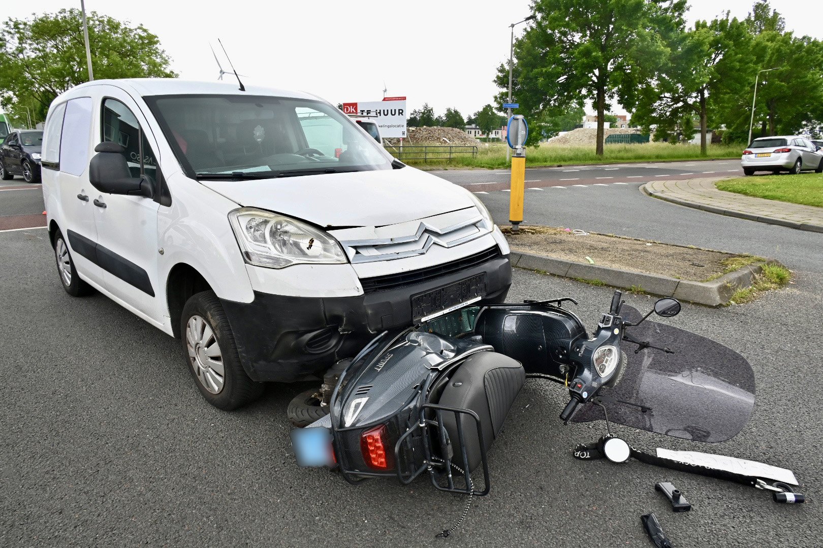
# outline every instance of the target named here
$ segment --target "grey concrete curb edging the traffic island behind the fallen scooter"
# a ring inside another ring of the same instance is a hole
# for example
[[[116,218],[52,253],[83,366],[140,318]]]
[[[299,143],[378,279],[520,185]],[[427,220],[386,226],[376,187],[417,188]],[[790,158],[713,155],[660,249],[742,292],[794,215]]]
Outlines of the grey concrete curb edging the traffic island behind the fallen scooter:
[[[720,278],[710,282],[692,282],[658,274],[589,265],[523,251],[512,250],[509,258],[513,266],[522,269],[542,270],[565,278],[600,280],[616,288],[639,287],[644,292],[653,295],[675,297],[682,301],[696,302],[706,306],[720,306],[728,303],[738,289],[751,286],[752,279],[763,271],[764,264],[776,262],[766,259],[764,262],[746,265],[742,269],[723,274]]]

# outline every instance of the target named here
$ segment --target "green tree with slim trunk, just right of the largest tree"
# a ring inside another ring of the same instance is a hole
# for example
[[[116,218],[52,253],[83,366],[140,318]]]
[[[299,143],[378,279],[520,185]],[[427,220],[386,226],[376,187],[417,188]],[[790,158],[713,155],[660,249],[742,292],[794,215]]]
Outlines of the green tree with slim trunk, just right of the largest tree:
[[[709,23],[696,21],[693,29],[667,37],[668,53],[658,67],[656,85],[641,92],[635,120],[661,135],[686,136],[693,128],[684,122],[696,117],[700,124],[700,153],[707,154],[709,110],[715,95],[741,95],[751,67],[751,35],[736,18]],[[656,137],[656,139],[659,137]],[[676,140],[672,140],[676,142]]]

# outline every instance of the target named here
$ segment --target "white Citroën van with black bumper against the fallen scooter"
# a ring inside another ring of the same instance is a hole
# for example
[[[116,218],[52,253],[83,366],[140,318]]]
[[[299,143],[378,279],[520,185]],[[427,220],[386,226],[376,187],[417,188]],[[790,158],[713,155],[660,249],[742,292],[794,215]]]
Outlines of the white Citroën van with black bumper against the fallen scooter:
[[[51,105],[42,166],[63,287],[181,338],[221,409],[511,283],[476,196],[311,94],[93,81]]]

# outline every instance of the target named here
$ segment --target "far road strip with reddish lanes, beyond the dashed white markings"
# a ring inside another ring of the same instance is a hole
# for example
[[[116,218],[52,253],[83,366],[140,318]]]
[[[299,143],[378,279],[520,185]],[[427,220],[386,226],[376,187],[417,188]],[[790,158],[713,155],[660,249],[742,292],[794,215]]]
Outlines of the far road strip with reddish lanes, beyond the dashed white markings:
[[[508,189],[511,178],[509,169],[449,169],[430,173],[478,193]],[[739,159],[558,166],[528,168],[526,187],[605,186],[614,183],[647,182],[658,177],[693,179],[695,177],[734,177],[742,174]]]

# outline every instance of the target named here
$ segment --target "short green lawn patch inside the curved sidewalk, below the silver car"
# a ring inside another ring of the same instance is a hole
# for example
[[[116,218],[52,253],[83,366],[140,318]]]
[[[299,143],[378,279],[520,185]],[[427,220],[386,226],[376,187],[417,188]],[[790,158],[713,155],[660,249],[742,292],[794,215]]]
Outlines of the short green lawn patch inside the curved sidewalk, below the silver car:
[[[742,177],[720,181],[717,187],[766,200],[823,207],[823,173]]]

